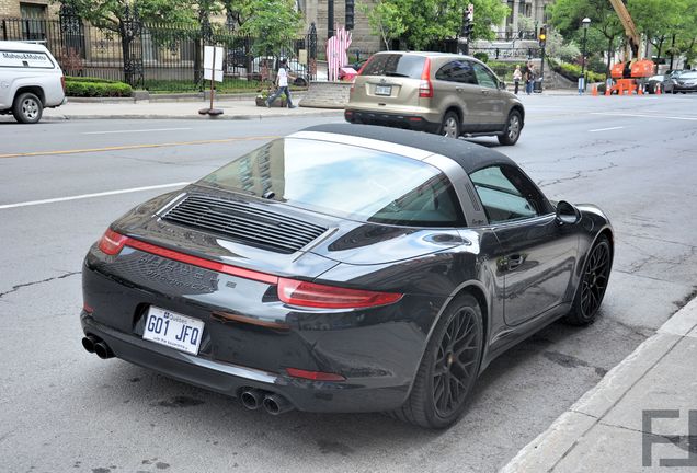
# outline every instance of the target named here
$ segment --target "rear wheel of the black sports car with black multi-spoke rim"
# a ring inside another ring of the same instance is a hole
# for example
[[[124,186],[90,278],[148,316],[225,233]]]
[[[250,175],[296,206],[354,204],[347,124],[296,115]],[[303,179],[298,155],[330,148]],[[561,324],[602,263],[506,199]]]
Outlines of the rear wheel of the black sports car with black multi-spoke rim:
[[[481,309],[472,295],[453,300],[431,335],[409,399],[392,416],[431,429],[456,423],[479,373],[483,326]]]

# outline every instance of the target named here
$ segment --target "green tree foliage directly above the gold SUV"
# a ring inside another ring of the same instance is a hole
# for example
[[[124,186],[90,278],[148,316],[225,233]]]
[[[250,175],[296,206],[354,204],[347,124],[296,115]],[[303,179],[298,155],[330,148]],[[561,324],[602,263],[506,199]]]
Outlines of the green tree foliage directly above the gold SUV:
[[[458,36],[462,12],[470,2],[475,5],[471,38],[493,38],[491,25],[499,24],[509,12],[500,0],[378,0],[359,8],[386,47],[391,39],[402,39],[410,49],[424,49],[434,42]]]

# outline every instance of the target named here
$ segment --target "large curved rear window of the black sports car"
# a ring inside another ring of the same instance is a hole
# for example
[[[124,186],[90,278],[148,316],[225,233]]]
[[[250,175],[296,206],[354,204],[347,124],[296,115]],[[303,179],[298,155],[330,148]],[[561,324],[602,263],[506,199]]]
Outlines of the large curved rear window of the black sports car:
[[[438,169],[348,145],[275,140],[198,184],[353,220],[410,227],[465,226],[453,185]]]

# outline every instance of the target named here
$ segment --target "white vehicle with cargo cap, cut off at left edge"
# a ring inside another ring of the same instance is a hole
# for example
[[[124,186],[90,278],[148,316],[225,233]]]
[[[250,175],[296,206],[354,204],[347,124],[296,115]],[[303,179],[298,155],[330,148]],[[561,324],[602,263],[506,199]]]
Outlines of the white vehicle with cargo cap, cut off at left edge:
[[[65,77],[45,46],[0,41],[0,115],[35,124],[46,107],[66,103]]]

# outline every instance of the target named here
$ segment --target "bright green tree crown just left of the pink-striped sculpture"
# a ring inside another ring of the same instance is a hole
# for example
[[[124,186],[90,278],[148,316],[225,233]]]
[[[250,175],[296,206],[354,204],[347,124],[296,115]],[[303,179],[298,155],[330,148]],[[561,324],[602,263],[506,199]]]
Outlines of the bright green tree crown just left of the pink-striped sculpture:
[[[239,32],[255,38],[256,55],[277,55],[300,32],[302,18],[294,0],[248,0],[239,5]]]

